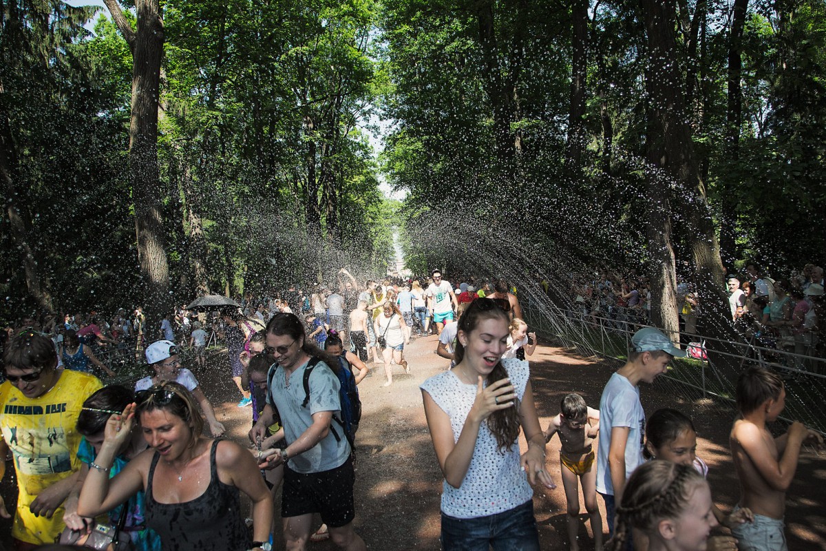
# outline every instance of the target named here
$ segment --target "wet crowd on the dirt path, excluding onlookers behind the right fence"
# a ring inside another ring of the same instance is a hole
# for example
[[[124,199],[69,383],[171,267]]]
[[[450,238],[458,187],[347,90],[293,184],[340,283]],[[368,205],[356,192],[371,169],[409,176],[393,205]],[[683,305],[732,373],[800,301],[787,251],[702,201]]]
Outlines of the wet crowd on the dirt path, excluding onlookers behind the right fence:
[[[604,292],[610,276],[601,281]],[[21,321],[4,346],[0,385],[0,454],[11,452],[20,490],[15,548],[74,542],[104,526],[126,534],[129,549],[268,551],[281,488],[287,549],[319,539],[366,549],[354,528],[358,383],[376,368],[385,386],[396,369],[410,373],[405,345],[432,334],[434,352],[451,360],[420,385],[444,473],[443,549],[539,549],[533,487],[555,487],[546,458],[555,435],[571,549],[579,549],[580,486],[595,549],[604,548],[597,494],[610,549],[702,549],[706,541],[709,549],[785,549],[785,492],[800,447],[823,440],[796,422],[771,437],[781,378],[748,368],[738,381],[731,443],[742,496],[726,514],[711,501],[691,419],[669,409],[646,423],[639,400],[640,383],[685,352],[656,329],[637,330],[599,409],[569,393],[543,428],[528,361],[537,335],[514,291],[503,279],[454,286],[439,270],[422,281],[362,283],[342,268],[330,287],[240,297],[241,308],[214,314],[182,308],[154,331],[140,309],[131,319],[118,311],[112,323],[97,314]],[[250,406],[249,447],[221,439],[224,425],[182,363],[182,350],[192,349],[189,367],[205,367],[213,335],[227,350],[226,384],[237,387],[240,407]],[[93,370],[113,372],[101,351],[137,351],[147,376],[104,387]],[[240,493],[252,504],[249,522]],[[2,501],[0,515],[10,515]],[[718,523],[734,537],[710,536]]]

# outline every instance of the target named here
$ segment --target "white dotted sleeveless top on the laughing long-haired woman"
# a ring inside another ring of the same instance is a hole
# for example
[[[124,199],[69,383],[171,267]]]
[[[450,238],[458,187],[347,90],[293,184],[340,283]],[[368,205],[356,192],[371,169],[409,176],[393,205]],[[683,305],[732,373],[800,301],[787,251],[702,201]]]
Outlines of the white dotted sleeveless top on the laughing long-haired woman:
[[[528,362],[503,359],[502,365],[516,389],[516,396],[521,400],[528,384]],[[453,370],[449,370],[427,379],[420,388],[448,414],[453,442],[458,441],[464,421],[476,400],[477,385],[463,383]],[[462,486],[454,488],[444,481],[442,487],[442,512],[458,519],[509,511],[534,496],[527,475],[520,466],[518,442],[514,441],[510,449],[502,454],[496,444],[496,436],[487,428],[487,421],[479,426],[476,447]]]

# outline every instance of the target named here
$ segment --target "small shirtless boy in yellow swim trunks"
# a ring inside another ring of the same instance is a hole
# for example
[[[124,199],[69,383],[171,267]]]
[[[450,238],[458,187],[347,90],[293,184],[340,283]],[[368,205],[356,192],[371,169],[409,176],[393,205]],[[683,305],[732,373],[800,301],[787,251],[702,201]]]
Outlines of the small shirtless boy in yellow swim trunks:
[[[567,533],[572,551],[579,550],[579,482],[582,480],[582,496],[585,508],[591,516],[594,533],[594,549],[602,549],[602,516],[596,505],[596,468],[594,439],[600,433],[600,411],[588,407],[579,394],[568,394],[559,403],[560,413],[545,430],[545,441],[559,435],[562,449],[559,451],[560,470],[567,500]]]

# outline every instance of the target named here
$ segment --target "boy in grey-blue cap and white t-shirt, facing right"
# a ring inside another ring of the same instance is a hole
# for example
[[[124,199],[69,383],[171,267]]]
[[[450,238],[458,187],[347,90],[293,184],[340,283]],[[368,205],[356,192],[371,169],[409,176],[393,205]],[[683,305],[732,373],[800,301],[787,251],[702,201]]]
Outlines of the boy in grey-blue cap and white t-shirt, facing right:
[[[659,330],[644,327],[631,339],[628,362],[611,375],[602,391],[596,491],[605,500],[609,538],[614,535],[615,503],[622,501],[625,481],[644,461],[645,412],[639,383],[653,383],[675,357],[685,358],[686,352]]]

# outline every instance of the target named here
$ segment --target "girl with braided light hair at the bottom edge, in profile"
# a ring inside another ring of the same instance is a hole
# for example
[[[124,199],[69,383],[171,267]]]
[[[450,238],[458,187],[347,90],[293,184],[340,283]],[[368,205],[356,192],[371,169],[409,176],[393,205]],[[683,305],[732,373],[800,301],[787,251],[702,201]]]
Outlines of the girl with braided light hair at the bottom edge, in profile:
[[[627,549],[634,529],[647,537],[648,551],[705,551],[717,525],[712,505],[708,482],[695,468],[662,459],[643,463],[625,485],[608,549]]]

